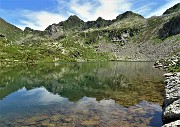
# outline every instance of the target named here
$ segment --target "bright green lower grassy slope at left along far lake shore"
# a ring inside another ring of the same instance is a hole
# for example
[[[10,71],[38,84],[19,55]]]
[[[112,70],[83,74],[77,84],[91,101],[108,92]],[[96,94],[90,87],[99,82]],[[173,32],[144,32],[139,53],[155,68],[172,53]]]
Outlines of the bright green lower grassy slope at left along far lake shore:
[[[74,43],[75,38],[56,41],[34,41],[25,44],[10,44],[0,40],[1,62],[53,62],[53,61],[101,61],[108,60],[107,54],[100,54],[90,47]]]

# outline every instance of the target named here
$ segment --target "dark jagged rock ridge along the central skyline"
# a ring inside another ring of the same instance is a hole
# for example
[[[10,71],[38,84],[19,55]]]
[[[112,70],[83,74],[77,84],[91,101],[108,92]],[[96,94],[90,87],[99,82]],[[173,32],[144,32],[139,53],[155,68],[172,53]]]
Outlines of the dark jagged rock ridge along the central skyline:
[[[79,17],[76,15],[70,16],[67,20],[62,21],[58,24],[52,24],[48,26],[45,31],[48,31],[50,35],[54,35],[55,33],[61,31],[59,35],[62,35],[62,33],[67,33],[68,31],[83,31],[86,29],[90,28],[100,28],[100,27],[106,27],[111,24],[113,24],[116,21],[125,19],[125,18],[133,18],[133,17],[141,17],[144,18],[143,16],[133,13],[131,11],[127,11],[123,14],[120,14],[119,16],[116,17],[114,20],[105,20],[102,17],[97,18],[96,21],[87,21],[84,22],[81,20]]]

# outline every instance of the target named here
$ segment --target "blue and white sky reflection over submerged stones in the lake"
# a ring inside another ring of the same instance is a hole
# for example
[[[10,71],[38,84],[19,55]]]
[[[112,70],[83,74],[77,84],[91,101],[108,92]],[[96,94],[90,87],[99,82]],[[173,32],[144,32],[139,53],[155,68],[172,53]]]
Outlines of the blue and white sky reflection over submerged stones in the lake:
[[[45,88],[25,88],[0,101],[0,126],[160,127],[161,106],[142,101],[128,108],[112,99],[83,97],[73,103]]]

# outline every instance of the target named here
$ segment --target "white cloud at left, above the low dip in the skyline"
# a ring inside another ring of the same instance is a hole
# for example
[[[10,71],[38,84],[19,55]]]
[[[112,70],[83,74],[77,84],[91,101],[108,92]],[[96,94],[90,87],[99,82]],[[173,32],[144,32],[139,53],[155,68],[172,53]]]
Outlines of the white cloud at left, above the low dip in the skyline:
[[[65,20],[63,15],[46,11],[33,12],[24,10],[20,14],[23,19],[20,20],[20,25],[18,25],[18,27],[21,29],[30,27],[37,30],[44,30],[50,24],[59,23],[60,21]]]

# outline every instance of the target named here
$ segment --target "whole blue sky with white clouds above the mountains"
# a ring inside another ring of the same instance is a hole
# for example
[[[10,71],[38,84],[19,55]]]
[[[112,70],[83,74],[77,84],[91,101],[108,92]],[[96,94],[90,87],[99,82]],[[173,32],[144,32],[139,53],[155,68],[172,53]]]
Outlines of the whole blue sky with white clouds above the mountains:
[[[114,19],[125,11],[159,16],[180,0],[0,0],[0,17],[21,29],[44,30],[77,15],[84,21]]]

